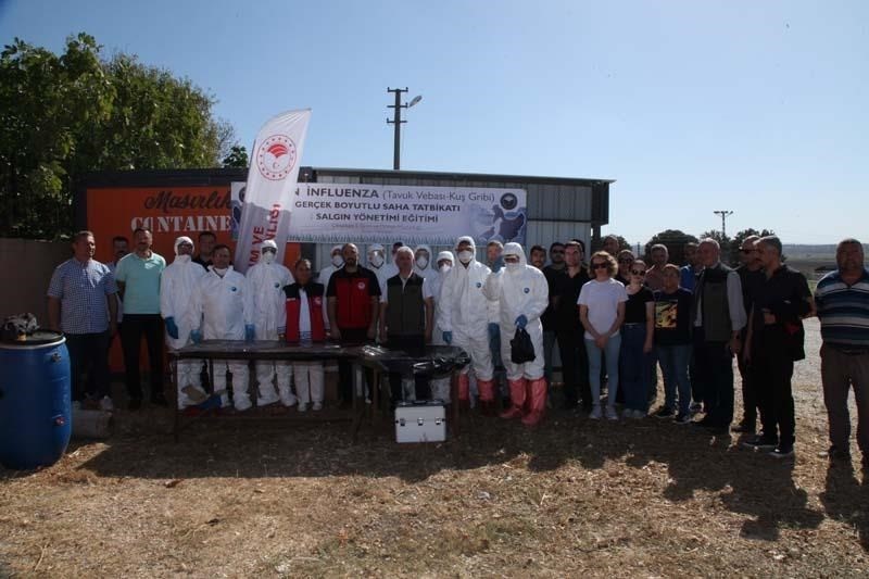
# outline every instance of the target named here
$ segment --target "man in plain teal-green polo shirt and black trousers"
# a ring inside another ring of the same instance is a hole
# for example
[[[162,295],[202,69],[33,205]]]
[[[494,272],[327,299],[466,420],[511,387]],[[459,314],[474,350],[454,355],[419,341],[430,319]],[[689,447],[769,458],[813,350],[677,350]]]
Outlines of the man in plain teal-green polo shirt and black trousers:
[[[148,344],[151,402],[167,406],[163,394],[163,319],[160,316],[160,276],[166,260],[151,251],[153,236],[146,228],[133,232],[136,249],[115,267],[115,279],[124,300],[124,326],[121,345],[124,350],[124,377],[129,394],[129,410],[142,405],[139,349],[142,336]]]

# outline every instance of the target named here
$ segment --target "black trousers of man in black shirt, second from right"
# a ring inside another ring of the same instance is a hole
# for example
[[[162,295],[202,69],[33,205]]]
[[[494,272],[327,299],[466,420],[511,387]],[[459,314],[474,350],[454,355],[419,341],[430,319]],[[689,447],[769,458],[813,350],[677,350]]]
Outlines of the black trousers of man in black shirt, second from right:
[[[796,428],[791,390],[794,362],[784,350],[783,337],[777,337],[774,331],[753,340],[750,373],[756,386],[764,435],[778,435],[780,444],[793,444]]]

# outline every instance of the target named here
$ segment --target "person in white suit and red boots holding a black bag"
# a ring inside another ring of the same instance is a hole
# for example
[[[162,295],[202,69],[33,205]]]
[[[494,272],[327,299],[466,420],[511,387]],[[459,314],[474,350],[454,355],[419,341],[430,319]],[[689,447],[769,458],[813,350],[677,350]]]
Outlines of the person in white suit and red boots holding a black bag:
[[[502,268],[503,266],[503,268]],[[483,294],[498,300],[501,328],[501,357],[507,370],[507,385],[512,406],[501,413],[502,418],[522,417],[522,424],[536,426],[546,407],[546,379],[543,376],[543,325],[540,316],[549,305],[546,276],[525,259],[518,243],[504,246],[504,253],[492,265],[492,273],[483,285]],[[531,337],[534,360],[514,364],[509,341],[522,328]],[[525,412],[526,403],[528,412]]]

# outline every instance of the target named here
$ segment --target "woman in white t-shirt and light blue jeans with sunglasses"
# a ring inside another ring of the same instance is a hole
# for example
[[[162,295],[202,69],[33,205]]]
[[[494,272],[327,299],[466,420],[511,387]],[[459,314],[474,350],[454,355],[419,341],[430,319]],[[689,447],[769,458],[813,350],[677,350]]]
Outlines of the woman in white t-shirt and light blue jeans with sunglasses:
[[[613,279],[618,270],[615,257],[605,251],[591,256],[591,281],[579,292],[579,320],[585,328],[585,351],[589,354],[589,381],[594,407],[589,418],[601,418],[601,356],[606,357],[608,397],[606,417],[617,420],[616,392],[618,388],[618,356],[621,348],[619,328],[625,320],[625,302],[628,294],[620,281]]]

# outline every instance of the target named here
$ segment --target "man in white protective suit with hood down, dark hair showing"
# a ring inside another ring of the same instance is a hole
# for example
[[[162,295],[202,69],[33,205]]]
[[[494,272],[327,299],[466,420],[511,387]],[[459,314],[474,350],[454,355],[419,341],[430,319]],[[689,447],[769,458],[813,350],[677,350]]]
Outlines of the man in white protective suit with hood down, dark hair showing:
[[[224,244],[214,248],[213,263],[199,281],[194,292],[194,311],[202,319],[202,328],[191,335],[194,342],[205,340],[244,340],[252,342],[255,336],[253,325],[253,293],[244,276],[232,269],[229,248]],[[248,394],[248,362],[228,360],[224,365],[214,364],[214,391],[226,390],[226,370],[232,375],[232,400],[236,410],[251,407]],[[229,405],[226,393],[221,395],[223,406]]]

